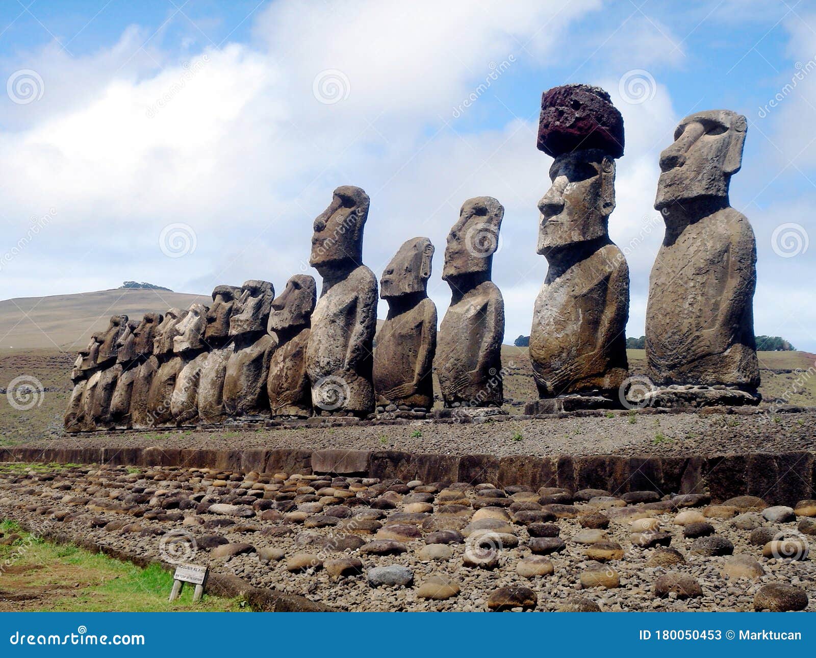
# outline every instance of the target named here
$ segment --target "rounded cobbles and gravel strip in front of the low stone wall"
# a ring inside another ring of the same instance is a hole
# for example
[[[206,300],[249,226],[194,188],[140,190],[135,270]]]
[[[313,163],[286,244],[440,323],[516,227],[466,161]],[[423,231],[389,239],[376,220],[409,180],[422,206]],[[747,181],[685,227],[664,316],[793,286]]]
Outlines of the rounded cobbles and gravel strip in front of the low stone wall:
[[[342,610],[816,611],[814,500],[7,464],[0,517]]]

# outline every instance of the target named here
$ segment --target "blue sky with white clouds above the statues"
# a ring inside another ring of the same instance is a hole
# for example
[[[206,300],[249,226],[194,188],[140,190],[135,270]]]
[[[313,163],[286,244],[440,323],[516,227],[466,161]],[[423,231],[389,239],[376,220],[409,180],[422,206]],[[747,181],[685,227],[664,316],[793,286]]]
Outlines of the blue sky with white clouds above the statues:
[[[465,199],[490,195],[506,209],[494,280],[512,341],[547,270],[541,92],[588,82],[626,127],[610,233],[632,276],[628,335],[644,331],[663,238],[659,152],[685,115],[725,108],[749,125],[731,203],[756,232],[756,333],[816,351],[816,7],[668,5],[3,0],[0,298],[125,279],[282,290],[317,274],[312,221],[358,185],[366,265],[379,276],[427,235],[441,316],[446,234]]]

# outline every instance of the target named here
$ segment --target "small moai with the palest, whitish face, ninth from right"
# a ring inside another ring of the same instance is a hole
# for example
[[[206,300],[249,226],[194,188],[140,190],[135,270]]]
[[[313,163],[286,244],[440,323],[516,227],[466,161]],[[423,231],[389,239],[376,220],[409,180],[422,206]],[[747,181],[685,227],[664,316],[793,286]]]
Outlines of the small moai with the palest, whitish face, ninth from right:
[[[187,315],[176,326],[179,336],[173,339],[173,353],[181,358],[182,363],[170,399],[170,411],[176,425],[193,425],[198,420],[198,386],[207,358],[204,351],[206,313],[206,306],[191,304]]]

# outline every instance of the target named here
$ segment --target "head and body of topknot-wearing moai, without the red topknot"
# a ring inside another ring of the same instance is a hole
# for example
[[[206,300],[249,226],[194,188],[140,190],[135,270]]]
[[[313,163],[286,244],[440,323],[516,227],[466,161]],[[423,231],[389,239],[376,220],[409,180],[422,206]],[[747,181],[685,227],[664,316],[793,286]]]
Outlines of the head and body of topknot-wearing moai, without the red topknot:
[[[581,394],[619,406],[628,373],[629,269],[609,238],[614,160],[597,149],[559,155],[539,201],[538,253],[549,269],[535,301],[530,360],[540,398]]]

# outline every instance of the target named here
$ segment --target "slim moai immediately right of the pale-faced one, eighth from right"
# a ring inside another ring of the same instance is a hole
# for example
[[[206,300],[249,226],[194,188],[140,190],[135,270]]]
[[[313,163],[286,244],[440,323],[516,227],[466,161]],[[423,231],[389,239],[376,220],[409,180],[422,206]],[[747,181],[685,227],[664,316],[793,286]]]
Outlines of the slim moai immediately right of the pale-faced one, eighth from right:
[[[198,416],[204,423],[215,424],[224,420],[224,376],[229,356],[235,346],[229,343],[229,320],[236,312],[241,288],[216,286],[212,291],[212,305],[206,313],[204,342],[210,349],[202,366],[198,385]]]

